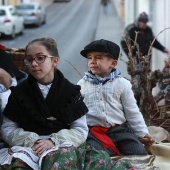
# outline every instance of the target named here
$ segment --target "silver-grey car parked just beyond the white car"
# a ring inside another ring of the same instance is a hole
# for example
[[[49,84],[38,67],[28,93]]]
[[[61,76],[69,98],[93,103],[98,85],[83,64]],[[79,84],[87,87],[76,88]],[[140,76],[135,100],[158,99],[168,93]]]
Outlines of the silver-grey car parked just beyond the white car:
[[[18,14],[24,17],[24,25],[40,26],[46,23],[46,11],[39,3],[20,3],[15,6]]]

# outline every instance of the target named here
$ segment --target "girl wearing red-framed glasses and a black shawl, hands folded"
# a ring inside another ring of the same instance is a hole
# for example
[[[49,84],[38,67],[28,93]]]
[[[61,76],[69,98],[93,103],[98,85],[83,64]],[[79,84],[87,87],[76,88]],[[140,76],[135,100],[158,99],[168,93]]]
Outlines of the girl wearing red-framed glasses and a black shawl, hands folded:
[[[2,136],[12,147],[8,157],[20,158],[37,169],[38,158],[50,149],[77,147],[86,140],[88,110],[80,87],[71,84],[56,69],[59,55],[53,39],[31,41],[26,46],[24,62],[30,74],[9,97],[3,112]],[[1,164],[11,163],[12,168],[16,160]]]

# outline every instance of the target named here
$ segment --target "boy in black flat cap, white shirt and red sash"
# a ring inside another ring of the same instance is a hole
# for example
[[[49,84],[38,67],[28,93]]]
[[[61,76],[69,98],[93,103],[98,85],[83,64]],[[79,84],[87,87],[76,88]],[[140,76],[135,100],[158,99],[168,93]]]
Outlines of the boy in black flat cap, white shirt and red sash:
[[[89,109],[87,143],[110,156],[145,155],[139,138],[147,138],[146,145],[154,140],[136,104],[131,83],[115,68],[119,46],[101,39],[91,42],[80,53],[88,59],[90,69],[78,82]]]

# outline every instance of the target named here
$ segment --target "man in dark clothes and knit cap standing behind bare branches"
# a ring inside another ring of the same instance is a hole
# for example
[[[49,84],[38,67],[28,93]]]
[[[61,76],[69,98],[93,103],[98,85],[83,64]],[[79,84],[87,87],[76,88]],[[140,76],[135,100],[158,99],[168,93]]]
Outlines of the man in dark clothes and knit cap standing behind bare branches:
[[[128,56],[128,53],[130,51],[128,49],[126,40],[129,39],[130,42],[128,42],[128,43],[133,46],[135,39],[136,39],[136,43],[138,44],[138,49],[135,46],[135,48],[132,51],[132,57],[134,58],[133,61],[136,66],[136,70],[141,69],[139,56],[148,55],[151,43],[153,42],[153,40],[155,38],[155,36],[152,32],[152,29],[147,25],[148,21],[149,21],[149,17],[145,12],[142,12],[141,14],[139,14],[137,21],[132,24],[129,24],[125,28],[125,33],[124,33],[125,37],[123,37],[121,40],[122,49]],[[138,35],[136,38],[137,33],[138,33]],[[169,50],[166,49],[157,39],[154,41],[152,46],[166,54],[170,53]],[[138,50],[139,50],[139,54],[137,53]],[[150,51],[149,59],[151,59],[151,51]],[[139,105],[140,96],[141,96],[140,75],[136,75],[136,81],[137,81],[137,85],[138,85],[138,87],[137,87],[138,94],[136,94],[136,99],[137,99],[137,102]]]

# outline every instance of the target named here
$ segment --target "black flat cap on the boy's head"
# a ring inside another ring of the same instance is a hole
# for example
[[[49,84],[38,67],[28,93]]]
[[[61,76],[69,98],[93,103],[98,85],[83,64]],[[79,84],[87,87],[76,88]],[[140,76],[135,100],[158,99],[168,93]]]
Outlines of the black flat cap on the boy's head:
[[[118,60],[120,54],[120,47],[112,41],[101,39],[93,41],[90,44],[86,45],[84,47],[84,50],[82,50],[80,54],[83,57],[87,58],[87,54],[93,51],[108,53],[114,59]]]

